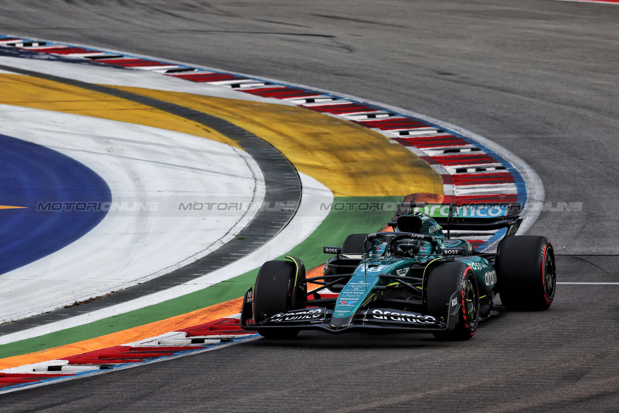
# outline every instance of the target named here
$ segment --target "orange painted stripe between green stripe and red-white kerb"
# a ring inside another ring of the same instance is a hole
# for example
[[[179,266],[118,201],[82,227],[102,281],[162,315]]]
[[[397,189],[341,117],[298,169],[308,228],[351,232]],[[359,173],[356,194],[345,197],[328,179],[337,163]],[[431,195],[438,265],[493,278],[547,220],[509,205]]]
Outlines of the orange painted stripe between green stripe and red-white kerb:
[[[106,334],[105,336],[28,353],[22,356],[6,357],[5,359],[0,359],[0,370],[19,367],[25,364],[62,359],[63,357],[106,349],[120,344],[133,343],[134,341],[144,340],[158,336],[159,334],[169,333],[170,331],[182,330],[183,328],[219,320],[219,318],[229,317],[230,315],[238,313],[238,309],[241,308],[242,304],[243,297],[239,297],[227,302],[222,302],[221,304],[211,305],[205,309],[177,315],[176,317],[167,318],[162,321],[155,321],[154,323],[143,326],[129,328],[128,330],[118,331],[117,333]]]

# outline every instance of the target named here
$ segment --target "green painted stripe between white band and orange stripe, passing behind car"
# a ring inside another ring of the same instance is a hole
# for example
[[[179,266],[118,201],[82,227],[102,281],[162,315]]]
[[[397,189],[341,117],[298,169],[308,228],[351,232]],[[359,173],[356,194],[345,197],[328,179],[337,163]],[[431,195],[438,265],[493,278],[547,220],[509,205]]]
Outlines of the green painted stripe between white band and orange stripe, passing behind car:
[[[402,200],[401,197],[337,197],[335,198],[336,204],[343,205],[343,210],[332,210],[311,236],[290,250],[290,252],[282,255],[280,259],[284,259],[285,255],[298,257],[305,263],[307,270],[324,263],[331,256],[322,253],[323,245],[342,245],[348,234],[378,231],[394,214],[392,210],[381,211],[374,209],[372,211],[358,211],[355,205],[368,202],[395,203],[400,202],[400,200]],[[253,286],[257,274],[258,268],[201,291],[177,297],[160,304],[150,305],[143,309],[115,315],[32,339],[4,344],[0,346],[0,358],[19,356],[20,354],[41,351],[105,334],[116,333],[116,331],[127,330],[128,328],[164,320],[165,318],[175,317],[176,315],[232,300],[243,296],[247,289]]]

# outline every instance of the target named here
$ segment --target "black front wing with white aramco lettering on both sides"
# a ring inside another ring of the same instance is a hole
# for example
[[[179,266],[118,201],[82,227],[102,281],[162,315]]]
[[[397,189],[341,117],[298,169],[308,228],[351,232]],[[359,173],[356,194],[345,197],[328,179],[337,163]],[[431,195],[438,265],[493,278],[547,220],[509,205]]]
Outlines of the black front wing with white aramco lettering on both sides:
[[[446,312],[446,317],[434,317],[415,312],[393,309],[361,309],[355,314],[350,325],[335,327],[331,325],[333,311],[325,307],[309,307],[275,314],[260,323],[253,320],[251,288],[246,292],[241,310],[241,328],[251,331],[267,330],[321,330],[331,334],[348,331],[383,330],[385,333],[417,332],[434,333],[452,330],[457,320],[456,312]],[[454,317],[455,315],[455,317]],[[451,323],[450,323],[451,321]]]

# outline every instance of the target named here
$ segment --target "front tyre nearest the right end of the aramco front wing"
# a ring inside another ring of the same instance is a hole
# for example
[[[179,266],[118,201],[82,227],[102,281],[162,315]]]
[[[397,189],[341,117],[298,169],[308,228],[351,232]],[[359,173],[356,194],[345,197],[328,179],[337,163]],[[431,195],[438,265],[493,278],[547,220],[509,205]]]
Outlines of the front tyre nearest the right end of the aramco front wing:
[[[435,338],[444,341],[470,339],[477,331],[479,323],[479,292],[475,273],[470,266],[461,262],[439,263],[428,274],[428,313],[435,317],[447,318],[452,294],[459,301],[454,330],[433,333]]]

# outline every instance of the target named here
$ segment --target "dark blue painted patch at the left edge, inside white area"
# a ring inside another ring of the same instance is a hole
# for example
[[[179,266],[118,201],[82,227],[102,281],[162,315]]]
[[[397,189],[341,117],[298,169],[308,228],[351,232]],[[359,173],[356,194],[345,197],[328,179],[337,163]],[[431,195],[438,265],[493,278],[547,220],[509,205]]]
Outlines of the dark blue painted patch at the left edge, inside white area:
[[[50,148],[0,135],[0,205],[27,206],[0,210],[0,274],[84,236],[106,215],[95,205],[110,201],[108,185],[83,164]],[[61,209],[43,211],[52,203]]]

